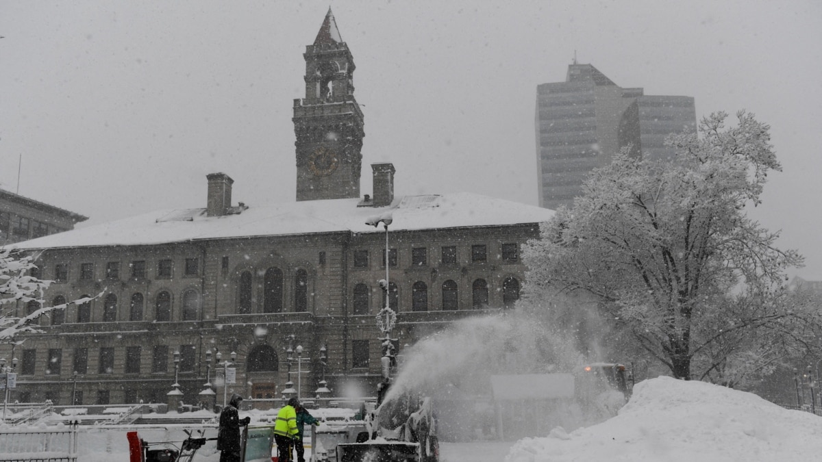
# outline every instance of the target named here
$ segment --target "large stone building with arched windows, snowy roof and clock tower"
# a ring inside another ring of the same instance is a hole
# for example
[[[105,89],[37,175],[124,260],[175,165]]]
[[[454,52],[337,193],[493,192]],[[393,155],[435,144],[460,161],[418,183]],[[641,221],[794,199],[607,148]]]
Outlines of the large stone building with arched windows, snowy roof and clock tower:
[[[166,402],[175,372],[189,404],[205,388],[279,397],[289,379],[303,397],[323,378],[333,395],[374,395],[385,298],[400,350],[519,298],[520,246],[552,210],[468,193],[395,197],[402,173],[387,163],[372,164],[372,194],[360,197],[363,113],[330,12],[304,56],[306,96],[293,105],[297,201],[234,205],[233,180],[213,173],[194,208],[17,244],[42,251],[40,273],[55,281],[46,303],[99,296],[44,316],[44,333],[14,351],[0,345],[0,356],[20,359],[12,399]],[[386,214],[387,230],[366,224]],[[302,362],[289,362],[298,345]],[[228,390],[215,381],[217,351],[223,361],[236,353]]]

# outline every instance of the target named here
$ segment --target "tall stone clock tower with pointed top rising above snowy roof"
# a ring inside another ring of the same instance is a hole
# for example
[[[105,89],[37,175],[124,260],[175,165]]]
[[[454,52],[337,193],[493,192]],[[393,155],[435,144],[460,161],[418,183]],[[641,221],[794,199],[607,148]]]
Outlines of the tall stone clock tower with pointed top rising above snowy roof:
[[[354,62],[329,8],[306,47],[306,95],[294,99],[297,200],[359,197],[363,111],[354,99]]]

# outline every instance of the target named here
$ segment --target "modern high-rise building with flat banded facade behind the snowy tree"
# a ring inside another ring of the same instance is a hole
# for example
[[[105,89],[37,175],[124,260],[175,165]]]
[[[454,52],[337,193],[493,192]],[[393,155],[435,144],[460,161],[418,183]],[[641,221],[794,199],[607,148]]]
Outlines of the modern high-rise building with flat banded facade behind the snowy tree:
[[[571,64],[566,81],[537,86],[539,206],[572,206],[588,173],[624,146],[649,159],[670,157],[665,137],[695,127],[692,97],[646,96],[590,64]]]

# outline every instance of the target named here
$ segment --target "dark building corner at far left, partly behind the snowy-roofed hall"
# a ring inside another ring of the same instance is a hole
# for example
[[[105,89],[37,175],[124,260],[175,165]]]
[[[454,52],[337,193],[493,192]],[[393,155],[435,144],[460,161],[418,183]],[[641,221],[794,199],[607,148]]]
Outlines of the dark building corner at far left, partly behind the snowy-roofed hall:
[[[74,229],[85,217],[0,189],[0,245]]]

